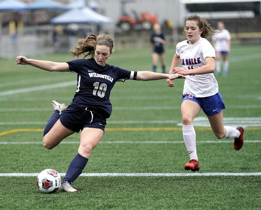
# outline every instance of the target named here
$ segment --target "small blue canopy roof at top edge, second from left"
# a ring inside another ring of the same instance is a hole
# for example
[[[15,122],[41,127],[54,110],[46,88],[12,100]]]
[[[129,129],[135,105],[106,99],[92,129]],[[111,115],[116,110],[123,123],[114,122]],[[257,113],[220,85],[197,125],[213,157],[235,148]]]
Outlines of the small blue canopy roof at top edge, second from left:
[[[51,10],[58,10],[58,9],[65,9],[64,5],[52,1],[52,0],[37,0],[35,2],[32,2],[31,4],[28,4],[26,9],[29,10],[40,10],[40,9],[51,9]]]

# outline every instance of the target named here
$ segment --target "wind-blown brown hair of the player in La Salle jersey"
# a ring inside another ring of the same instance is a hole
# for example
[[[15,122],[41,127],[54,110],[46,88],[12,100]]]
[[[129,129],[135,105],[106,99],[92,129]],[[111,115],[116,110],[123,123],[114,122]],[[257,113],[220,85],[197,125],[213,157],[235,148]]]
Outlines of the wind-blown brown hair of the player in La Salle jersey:
[[[188,20],[194,20],[194,21],[197,21],[198,22],[198,27],[199,27],[199,30],[202,28],[203,29],[203,32],[200,34],[200,36],[202,38],[207,38],[209,36],[212,36],[214,34],[216,34],[217,32],[215,30],[213,30],[211,28],[211,24],[209,22],[207,22],[206,19],[194,14],[194,15],[190,15],[186,21]],[[184,31],[183,31],[183,34],[186,36],[186,26],[184,27]]]

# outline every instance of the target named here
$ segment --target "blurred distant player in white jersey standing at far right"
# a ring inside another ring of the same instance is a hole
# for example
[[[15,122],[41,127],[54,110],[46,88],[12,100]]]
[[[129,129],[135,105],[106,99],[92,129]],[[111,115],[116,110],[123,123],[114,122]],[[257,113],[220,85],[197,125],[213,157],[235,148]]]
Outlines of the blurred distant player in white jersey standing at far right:
[[[217,23],[218,33],[212,37],[212,45],[216,50],[216,75],[221,72],[221,55],[223,57],[223,75],[228,75],[228,53],[230,52],[231,36],[227,29],[224,28],[224,23]]]

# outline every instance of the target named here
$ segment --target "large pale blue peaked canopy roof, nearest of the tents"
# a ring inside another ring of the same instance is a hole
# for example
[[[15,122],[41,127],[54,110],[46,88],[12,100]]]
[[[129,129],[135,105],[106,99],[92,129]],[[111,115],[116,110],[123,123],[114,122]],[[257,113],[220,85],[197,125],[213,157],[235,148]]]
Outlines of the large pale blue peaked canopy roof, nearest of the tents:
[[[111,19],[104,15],[93,11],[88,7],[82,9],[72,9],[57,17],[51,19],[53,24],[70,24],[70,23],[86,23],[86,24],[96,24],[102,25],[105,23],[111,23]]]

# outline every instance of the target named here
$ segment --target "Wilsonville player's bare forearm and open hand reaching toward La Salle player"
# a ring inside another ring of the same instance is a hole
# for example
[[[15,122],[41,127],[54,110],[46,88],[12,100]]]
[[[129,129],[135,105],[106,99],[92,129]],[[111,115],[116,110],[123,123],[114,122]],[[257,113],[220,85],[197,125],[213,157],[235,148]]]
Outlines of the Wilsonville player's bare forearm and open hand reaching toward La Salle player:
[[[174,80],[177,78],[185,78],[185,76],[181,74],[162,74],[162,73],[155,73],[151,71],[138,71],[136,80],[142,80],[142,81],[161,80],[161,79]]]

